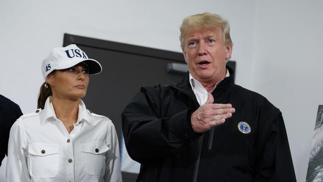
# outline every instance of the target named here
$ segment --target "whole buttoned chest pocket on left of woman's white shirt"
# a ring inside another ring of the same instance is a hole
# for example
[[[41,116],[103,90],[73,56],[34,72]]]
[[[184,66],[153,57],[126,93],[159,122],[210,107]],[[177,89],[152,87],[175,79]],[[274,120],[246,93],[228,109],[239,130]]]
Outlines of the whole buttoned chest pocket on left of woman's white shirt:
[[[55,178],[59,172],[59,146],[47,143],[30,144],[27,164],[32,178]]]

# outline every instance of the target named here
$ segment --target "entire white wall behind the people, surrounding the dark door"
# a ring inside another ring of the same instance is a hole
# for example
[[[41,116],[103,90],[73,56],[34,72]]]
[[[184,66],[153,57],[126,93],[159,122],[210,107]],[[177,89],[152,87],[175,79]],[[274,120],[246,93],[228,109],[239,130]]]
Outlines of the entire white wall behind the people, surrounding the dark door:
[[[320,17],[309,9],[315,8],[322,20],[322,12],[319,12],[322,2],[314,2],[2,0],[0,94],[19,104],[23,113],[34,111],[38,89],[43,82],[41,61],[53,47],[62,46],[64,33],[180,52],[178,28],[181,20],[194,13],[215,12],[231,24],[234,41],[232,59],[237,61],[236,83],[259,91],[282,110],[297,178],[304,181],[316,109],[322,100],[322,96],[317,94],[322,87],[311,84],[319,83],[319,76],[322,76],[318,65],[322,66],[322,61],[319,61],[322,60],[322,53],[318,55],[322,23],[320,27]],[[290,4],[294,4],[295,8],[289,7]],[[267,14],[276,11],[277,15],[268,17]],[[297,17],[303,21],[315,19],[298,22],[293,19],[295,13],[299,13]],[[274,28],[276,19],[282,30]],[[305,25],[316,28],[307,29]],[[288,41],[283,41],[284,36],[288,36]],[[290,62],[295,60],[304,60],[304,64],[314,63],[316,66],[312,68],[293,63],[296,68],[291,69]],[[300,72],[306,73],[306,77],[297,77]],[[304,87],[304,84],[307,86]],[[305,105],[308,100],[312,100],[311,104]],[[300,105],[297,107],[296,104]],[[295,112],[295,109],[306,112]],[[298,115],[293,116],[295,113]],[[305,125],[305,122],[308,124]],[[301,134],[306,137],[300,138]],[[2,164],[0,181],[4,178],[3,169]]]

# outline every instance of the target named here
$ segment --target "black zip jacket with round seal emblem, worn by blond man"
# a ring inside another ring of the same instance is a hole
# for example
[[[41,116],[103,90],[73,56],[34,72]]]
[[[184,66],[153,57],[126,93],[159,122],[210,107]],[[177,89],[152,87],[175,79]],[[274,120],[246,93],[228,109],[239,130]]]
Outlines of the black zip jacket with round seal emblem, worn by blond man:
[[[229,70],[212,94],[236,113],[203,134],[190,123],[199,104],[188,73],[178,84],[141,88],[125,107],[126,148],[142,164],[137,182],[296,182],[280,110],[235,85]],[[250,133],[239,130],[242,121]]]

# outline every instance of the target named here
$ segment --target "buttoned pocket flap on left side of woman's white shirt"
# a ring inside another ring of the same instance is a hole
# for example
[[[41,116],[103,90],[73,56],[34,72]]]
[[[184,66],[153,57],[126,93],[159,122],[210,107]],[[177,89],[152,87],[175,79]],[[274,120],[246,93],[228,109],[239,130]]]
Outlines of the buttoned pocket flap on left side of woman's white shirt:
[[[60,148],[56,144],[33,143],[28,146],[28,153],[34,156],[48,156],[59,152]]]

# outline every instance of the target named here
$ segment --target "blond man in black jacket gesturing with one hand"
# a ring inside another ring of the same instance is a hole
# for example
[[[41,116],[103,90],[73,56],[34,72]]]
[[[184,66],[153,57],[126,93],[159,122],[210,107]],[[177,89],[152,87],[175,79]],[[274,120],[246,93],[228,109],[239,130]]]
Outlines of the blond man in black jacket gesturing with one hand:
[[[122,113],[137,182],[296,182],[281,112],[226,67],[228,22],[195,14],[180,32],[183,80],[141,88]]]

